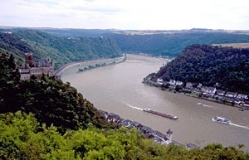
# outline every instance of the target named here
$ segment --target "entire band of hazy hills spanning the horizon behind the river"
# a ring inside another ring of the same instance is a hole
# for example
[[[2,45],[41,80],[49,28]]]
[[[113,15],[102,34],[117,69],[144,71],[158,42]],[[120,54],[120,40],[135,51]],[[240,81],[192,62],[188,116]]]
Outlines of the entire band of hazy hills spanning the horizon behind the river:
[[[51,58],[55,67],[125,53],[176,57],[193,44],[249,43],[248,31],[211,29],[140,31],[115,29],[0,28],[0,51],[22,61],[25,52]]]

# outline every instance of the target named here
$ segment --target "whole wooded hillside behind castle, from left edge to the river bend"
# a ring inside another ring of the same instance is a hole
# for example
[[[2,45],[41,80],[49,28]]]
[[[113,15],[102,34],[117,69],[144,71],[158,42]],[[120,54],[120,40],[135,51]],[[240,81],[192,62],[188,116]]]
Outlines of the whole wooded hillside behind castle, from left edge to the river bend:
[[[0,33],[0,50],[20,61],[27,52],[33,52],[36,60],[49,57],[55,68],[70,62],[121,56],[120,48],[110,37],[57,37],[38,30]]]

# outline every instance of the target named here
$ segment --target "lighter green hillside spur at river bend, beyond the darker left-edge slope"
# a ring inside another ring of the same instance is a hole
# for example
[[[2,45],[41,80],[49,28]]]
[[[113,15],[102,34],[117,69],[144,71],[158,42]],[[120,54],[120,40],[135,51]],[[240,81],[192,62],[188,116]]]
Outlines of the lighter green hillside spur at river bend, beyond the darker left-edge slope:
[[[121,55],[115,40],[110,37],[56,37],[38,30],[22,30],[13,35],[28,43],[40,58],[50,57],[55,67],[75,61],[113,58]]]

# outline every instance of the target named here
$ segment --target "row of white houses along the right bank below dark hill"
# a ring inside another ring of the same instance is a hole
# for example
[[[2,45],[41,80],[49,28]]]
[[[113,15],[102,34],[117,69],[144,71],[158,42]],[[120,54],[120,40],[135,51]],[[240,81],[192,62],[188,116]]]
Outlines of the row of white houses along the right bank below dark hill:
[[[160,87],[162,90],[167,90],[170,92],[172,91],[174,93],[183,93],[194,98],[202,98],[209,101],[238,107],[240,111],[249,109],[248,95],[219,90],[216,87],[203,86],[201,83],[196,85],[194,83],[187,82],[184,85],[182,81],[171,79],[166,82],[161,78],[158,78],[156,81],[152,81],[151,76],[145,77],[142,83]]]

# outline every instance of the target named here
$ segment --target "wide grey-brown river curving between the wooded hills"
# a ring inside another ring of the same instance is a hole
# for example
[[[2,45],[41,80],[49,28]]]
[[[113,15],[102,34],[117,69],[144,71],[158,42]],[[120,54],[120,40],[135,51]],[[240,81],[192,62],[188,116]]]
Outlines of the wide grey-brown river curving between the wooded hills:
[[[162,91],[142,83],[145,76],[158,71],[164,63],[163,59],[127,55],[123,63],[80,73],[77,72],[82,66],[72,67],[63,72],[62,80],[70,82],[96,108],[162,133],[170,128],[173,139],[180,143],[194,143],[200,147],[210,143],[223,146],[244,144],[244,149],[249,151],[249,111]],[[176,115],[179,119],[174,121],[152,115],[143,112],[142,108]],[[230,119],[232,124],[213,122],[214,116]]]

